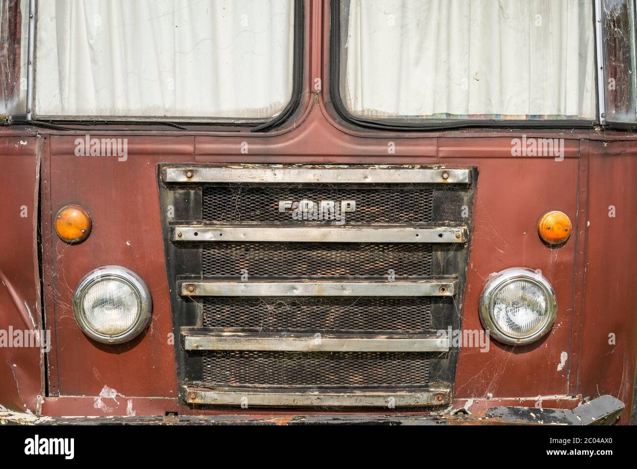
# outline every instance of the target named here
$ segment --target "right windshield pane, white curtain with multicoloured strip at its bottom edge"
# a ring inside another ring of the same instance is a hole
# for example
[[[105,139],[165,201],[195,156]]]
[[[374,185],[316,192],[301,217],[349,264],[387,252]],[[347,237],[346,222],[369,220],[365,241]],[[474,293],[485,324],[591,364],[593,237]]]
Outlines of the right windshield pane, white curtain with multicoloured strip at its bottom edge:
[[[354,117],[596,117],[591,0],[340,5],[340,94]]]

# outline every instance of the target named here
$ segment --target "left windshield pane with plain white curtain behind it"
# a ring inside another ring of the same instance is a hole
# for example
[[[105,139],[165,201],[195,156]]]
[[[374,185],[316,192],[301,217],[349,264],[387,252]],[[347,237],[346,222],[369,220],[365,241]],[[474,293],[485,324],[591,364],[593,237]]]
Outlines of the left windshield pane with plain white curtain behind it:
[[[268,120],[292,96],[294,0],[38,2],[38,117]]]

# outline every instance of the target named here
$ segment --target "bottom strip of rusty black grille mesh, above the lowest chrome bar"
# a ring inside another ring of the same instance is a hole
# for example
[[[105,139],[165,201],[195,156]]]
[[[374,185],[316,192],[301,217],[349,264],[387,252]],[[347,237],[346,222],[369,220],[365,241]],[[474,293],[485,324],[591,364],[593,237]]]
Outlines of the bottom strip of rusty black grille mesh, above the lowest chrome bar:
[[[201,352],[205,386],[424,387],[429,356],[374,352]]]

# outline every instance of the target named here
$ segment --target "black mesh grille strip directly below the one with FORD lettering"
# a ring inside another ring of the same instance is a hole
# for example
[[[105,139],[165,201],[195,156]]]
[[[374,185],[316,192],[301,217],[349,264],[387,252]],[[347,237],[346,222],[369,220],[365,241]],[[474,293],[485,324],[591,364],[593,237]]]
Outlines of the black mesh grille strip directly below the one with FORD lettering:
[[[203,275],[396,277],[431,275],[431,245],[215,243],[203,249]]]

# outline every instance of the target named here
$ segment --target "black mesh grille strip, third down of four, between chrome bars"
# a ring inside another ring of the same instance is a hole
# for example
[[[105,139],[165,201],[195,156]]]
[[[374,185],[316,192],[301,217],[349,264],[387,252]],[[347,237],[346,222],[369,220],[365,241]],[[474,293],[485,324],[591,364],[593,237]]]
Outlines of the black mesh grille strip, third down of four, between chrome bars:
[[[204,298],[203,326],[318,331],[427,331],[427,297]]]

